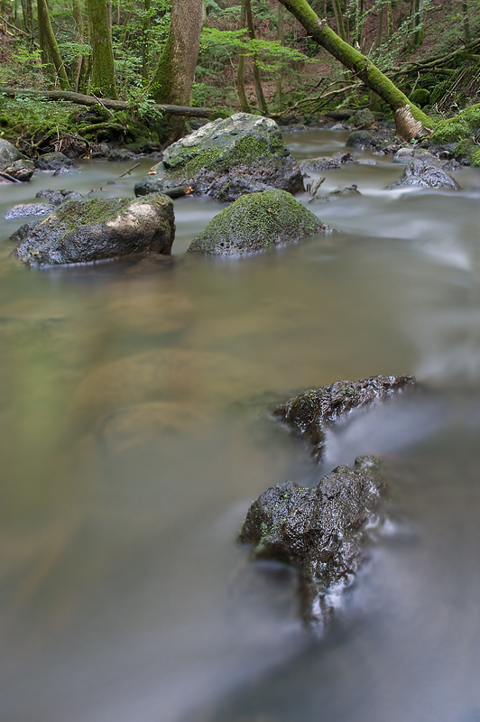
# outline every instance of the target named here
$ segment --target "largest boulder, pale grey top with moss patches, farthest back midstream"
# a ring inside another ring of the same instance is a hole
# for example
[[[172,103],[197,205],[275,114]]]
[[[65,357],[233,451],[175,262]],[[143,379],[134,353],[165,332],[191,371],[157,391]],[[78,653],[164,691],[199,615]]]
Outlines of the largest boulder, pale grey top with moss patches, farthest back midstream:
[[[249,192],[245,183],[232,186],[238,176],[291,193],[303,190],[300,168],[283,143],[279,126],[270,118],[236,113],[173,143],[162,162],[135,185],[135,194],[190,185],[195,193],[233,200]]]

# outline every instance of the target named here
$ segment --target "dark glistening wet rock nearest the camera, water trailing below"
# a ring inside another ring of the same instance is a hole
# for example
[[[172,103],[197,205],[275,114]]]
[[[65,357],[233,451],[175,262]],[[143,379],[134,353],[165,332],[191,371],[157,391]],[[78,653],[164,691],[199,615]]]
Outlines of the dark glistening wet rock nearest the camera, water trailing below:
[[[307,623],[326,625],[331,595],[351,587],[365,561],[366,527],[378,527],[385,485],[376,460],[340,466],[314,489],[292,481],[272,486],[250,506],[240,541],[254,545],[254,560],[276,560],[300,574],[301,612]]]

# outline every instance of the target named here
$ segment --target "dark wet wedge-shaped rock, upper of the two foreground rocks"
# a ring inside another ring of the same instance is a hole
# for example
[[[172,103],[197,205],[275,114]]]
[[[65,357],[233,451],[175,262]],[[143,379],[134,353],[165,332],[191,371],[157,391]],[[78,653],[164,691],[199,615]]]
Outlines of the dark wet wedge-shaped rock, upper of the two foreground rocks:
[[[313,447],[320,458],[328,428],[346,421],[349,412],[379,403],[415,384],[414,376],[373,376],[360,381],[337,381],[295,396],[273,409],[273,415]]]

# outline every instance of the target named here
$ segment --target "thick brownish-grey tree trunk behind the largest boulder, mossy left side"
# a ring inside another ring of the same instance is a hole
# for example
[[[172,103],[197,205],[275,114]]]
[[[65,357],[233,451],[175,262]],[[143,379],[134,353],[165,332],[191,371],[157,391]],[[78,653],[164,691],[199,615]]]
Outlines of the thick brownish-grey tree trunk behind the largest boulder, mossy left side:
[[[189,105],[202,23],[203,0],[172,0],[169,36],[151,84],[155,103]],[[183,125],[182,119],[171,121],[170,141],[180,137]]]

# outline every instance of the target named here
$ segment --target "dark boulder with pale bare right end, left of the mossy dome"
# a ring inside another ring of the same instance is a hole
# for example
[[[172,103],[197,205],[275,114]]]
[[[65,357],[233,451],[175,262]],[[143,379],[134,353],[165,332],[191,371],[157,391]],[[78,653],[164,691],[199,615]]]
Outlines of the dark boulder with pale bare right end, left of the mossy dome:
[[[67,200],[37,224],[21,227],[14,255],[30,266],[78,264],[145,251],[170,255],[175,235],[173,201],[162,193],[144,199]]]

